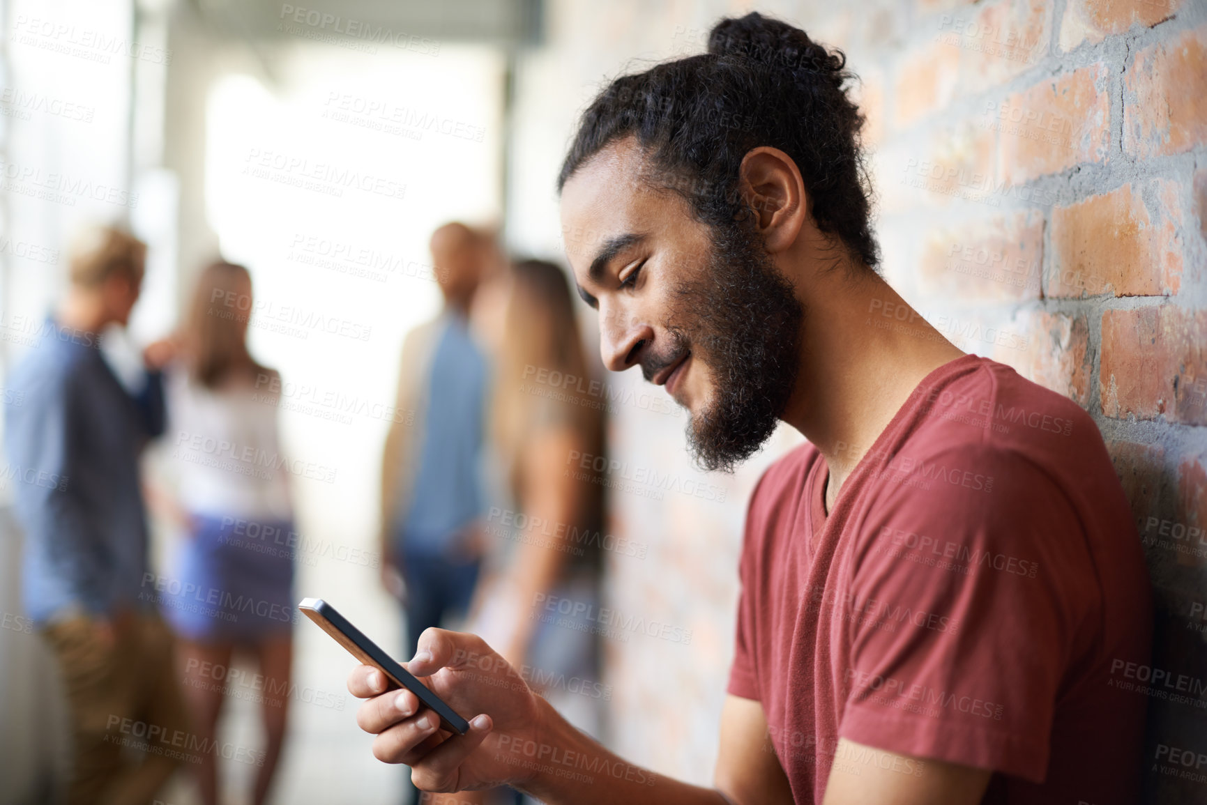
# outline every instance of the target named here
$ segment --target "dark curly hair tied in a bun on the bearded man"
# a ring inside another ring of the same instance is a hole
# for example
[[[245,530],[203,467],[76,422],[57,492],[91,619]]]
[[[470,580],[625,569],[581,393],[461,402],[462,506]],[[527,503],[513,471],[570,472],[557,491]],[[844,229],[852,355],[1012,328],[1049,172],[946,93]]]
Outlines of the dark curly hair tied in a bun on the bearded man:
[[[583,112],[558,191],[584,162],[634,135],[657,183],[686,197],[699,218],[728,228],[750,208],[739,194],[742,158],[772,146],[797,163],[818,229],[869,268],[870,182],[847,97],[846,56],[805,31],[752,12],[721,19],[709,51],[614,80]]]

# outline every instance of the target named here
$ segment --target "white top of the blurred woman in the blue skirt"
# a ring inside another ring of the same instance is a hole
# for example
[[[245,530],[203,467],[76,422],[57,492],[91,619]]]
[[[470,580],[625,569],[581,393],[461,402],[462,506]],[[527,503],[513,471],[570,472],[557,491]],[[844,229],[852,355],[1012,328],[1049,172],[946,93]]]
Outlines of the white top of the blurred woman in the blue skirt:
[[[167,463],[180,504],[220,518],[291,518],[274,386],[211,390],[185,371],[170,372],[164,385]]]

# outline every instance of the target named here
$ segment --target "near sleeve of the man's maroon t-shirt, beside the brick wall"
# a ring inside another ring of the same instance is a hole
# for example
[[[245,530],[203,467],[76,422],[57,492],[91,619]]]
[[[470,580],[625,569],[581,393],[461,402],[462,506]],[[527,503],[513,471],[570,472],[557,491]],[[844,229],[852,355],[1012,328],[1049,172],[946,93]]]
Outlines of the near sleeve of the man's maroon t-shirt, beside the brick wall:
[[[859,529],[839,735],[1042,782],[1073,632],[1092,601],[1079,520],[1007,450],[902,472]]]

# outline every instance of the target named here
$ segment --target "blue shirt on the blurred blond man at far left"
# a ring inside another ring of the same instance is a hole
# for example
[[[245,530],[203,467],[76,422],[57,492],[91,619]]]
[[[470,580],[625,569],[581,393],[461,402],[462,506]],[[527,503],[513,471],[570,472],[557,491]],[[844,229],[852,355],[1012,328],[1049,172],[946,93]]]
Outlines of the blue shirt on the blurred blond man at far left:
[[[147,525],[139,451],[164,427],[163,383],[132,397],[97,336],[47,321],[13,371],[5,413],[5,478],[25,531],[22,597],[35,623],[74,607],[107,616],[139,607]]]

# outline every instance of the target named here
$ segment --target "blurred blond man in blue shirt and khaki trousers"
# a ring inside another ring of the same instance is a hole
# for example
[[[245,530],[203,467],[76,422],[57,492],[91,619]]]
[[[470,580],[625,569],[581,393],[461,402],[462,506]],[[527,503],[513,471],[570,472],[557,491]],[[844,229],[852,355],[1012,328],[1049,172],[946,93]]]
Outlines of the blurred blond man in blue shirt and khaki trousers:
[[[112,227],[71,249],[70,288],[33,352],[12,373],[25,404],[8,407],[10,468],[19,471],[25,611],[53,649],[74,743],[70,804],[150,800],[176,760],[141,751],[154,728],[187,728],[173,673],[171,634],[151,606],[139,455],[163,432],[159,367],[144,352],[130,393],[100,352],[101,332],[126,326],[146,245]]]

